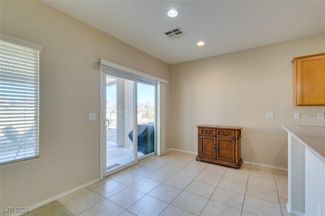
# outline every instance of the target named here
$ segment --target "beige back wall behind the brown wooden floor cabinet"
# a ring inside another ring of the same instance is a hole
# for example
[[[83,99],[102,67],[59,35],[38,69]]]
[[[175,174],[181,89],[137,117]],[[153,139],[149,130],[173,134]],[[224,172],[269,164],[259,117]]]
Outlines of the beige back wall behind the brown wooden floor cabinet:
[[[325,106],[293,106],[290,61],[321,52],[324,34],[172,65],[171,146],[197,152],[199,124],[242,126],[244,161],[287,167],[281,125],[325,126],[317,120]],[[266,119],[266,112],[274,119]]]

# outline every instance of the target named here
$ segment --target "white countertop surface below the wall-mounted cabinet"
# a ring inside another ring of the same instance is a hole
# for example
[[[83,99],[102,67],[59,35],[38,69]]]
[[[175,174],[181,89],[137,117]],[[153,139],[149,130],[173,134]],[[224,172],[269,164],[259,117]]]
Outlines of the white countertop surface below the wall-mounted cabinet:
[[[282,127],[325,163],[325,127],[296,125]]]

